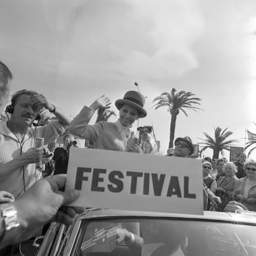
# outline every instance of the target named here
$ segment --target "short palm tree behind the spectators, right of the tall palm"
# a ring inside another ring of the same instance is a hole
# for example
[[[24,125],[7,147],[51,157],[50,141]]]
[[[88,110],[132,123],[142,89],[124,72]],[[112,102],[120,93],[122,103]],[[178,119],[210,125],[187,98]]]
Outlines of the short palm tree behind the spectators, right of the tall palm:
[[[203,148],[200,150],[200,154],[207,148],[211,148],[213,150],[213,158],[218,159],[220,152],[221,155],[223,155],[223,150],[229,151],[229,147],[232,147],[233,143],[237,142],[237,140],[226,140],[232,134],[233,132],[228,130],[228,128],[221,131],[221,128],[217,127],[214,133],[215,138],[213,139],[206,132],[203,132],[203,135],[205,135],[206,139],[200,139],[203,140],[203,142],[198,143],[204,145]]]

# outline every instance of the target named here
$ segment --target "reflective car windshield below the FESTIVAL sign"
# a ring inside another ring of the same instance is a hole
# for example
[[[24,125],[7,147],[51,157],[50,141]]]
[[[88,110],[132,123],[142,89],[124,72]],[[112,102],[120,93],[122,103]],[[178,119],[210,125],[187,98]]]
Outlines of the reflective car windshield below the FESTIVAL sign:
[[[133,242],[123,239],[124,230],[133,234]],[[256,226],[212,221],[84,220],[72,255],[255,256],[255,233]]]

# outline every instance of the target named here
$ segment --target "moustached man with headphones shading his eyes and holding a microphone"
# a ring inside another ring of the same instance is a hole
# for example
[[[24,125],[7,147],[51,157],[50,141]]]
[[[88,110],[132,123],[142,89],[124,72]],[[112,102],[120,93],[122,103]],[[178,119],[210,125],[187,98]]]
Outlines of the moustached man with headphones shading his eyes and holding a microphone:
[[[33,127],[42,109],[48,109],[58,120]],[[35,148],[36,138],[42,138],[44,144],[52,142],[66,130],[70,120],[45,96],[31,90],[15,92],[6,112],[11,117],[0,123],[0,190],[17,198],[35,182],[36,163],[45,153],[42,147]]]

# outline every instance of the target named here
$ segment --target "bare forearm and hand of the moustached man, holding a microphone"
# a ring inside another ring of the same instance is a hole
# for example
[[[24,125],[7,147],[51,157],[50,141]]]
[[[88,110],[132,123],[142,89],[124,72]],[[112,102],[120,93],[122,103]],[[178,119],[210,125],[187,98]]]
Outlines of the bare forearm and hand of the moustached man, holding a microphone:
[[[25,164],[38,163],[43,158],[42,148],[30,148],[23,155],[0,166],[0,179],[4,179],[10,174],[22,168]]]

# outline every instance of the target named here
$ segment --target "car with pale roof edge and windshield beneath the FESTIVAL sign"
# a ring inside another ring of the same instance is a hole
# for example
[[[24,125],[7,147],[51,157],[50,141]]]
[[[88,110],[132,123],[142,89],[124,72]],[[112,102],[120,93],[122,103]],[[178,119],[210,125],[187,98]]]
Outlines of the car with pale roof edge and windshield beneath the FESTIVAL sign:
[[[36,255],[255,256],[255,214],[88,209],[69,228],[52,223]],[[122,239],[123,230],[130,241]]]

